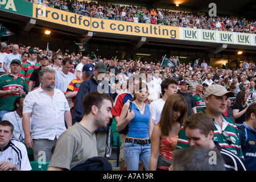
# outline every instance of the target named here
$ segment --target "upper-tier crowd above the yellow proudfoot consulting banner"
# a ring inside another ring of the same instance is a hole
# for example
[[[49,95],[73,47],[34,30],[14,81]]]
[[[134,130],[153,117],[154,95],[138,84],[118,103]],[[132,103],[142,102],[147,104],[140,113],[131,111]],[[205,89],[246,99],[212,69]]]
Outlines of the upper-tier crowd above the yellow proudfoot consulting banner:
[[[24,0],[44,6],[90,16],[93,18],[122,20],[128,22],[151,23],[166,26],[200,28],[207,30],[256,33],[256,20],[230,18],[229,16],[212,16],[189,12],[177,12],[163,9],[147,9],[139,6],[121,6],[87,1],[63,0]]]

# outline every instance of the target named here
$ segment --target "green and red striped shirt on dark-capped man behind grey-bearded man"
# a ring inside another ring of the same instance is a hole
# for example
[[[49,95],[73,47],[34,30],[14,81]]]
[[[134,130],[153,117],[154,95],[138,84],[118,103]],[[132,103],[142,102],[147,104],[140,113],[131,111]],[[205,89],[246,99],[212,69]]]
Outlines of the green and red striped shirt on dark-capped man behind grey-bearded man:
[[[30,76],[32,75],[32,72],[34,71],[34,69],[39,67],[40,67],[39,63],[35,63],[34,67],[30,63],[28,63],[28,61],[25,61],[24,63],[22,63],[22,67],[19,71],[19,75],[25,79],[27,89],[28,89],[28,84],[30,82]],[[32,88],[34,88],[34,85],[35,85],[35,82],[33,83]]]

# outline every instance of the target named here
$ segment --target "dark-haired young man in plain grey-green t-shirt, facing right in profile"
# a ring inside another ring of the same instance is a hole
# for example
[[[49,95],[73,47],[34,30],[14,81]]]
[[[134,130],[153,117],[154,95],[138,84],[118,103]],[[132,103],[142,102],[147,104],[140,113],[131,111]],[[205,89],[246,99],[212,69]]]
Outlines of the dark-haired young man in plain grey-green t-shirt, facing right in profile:
[[[71,170],[87,159],[98,156],[93,133],[108,125],[112,118],[112,105],[113,100],[108,94],[97,91],[86,94],[82,100],[83,117],[57,140],[49,171]]]

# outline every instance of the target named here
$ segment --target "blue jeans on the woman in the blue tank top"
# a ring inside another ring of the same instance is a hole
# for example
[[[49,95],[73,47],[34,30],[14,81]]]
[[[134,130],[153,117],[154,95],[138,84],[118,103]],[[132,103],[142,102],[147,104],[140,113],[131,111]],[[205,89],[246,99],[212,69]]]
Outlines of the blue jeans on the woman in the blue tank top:
[[[126,142],[124,155],[127,171],[138,171],[139,160],[141,160],[146,171],[149,171],[151,144],[141,145]]]

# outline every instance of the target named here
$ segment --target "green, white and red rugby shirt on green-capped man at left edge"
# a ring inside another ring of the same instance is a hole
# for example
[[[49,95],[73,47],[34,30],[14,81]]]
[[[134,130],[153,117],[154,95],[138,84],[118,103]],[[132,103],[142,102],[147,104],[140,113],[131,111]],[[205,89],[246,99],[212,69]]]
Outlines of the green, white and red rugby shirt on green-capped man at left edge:
[[[26,94],[28,93],[25,81],[20,76],[15,79],[15,77],[9,73],[8,75],[2,75],[0,77],[0,90],[11,90],[16,87],[23,89]],[[0,97],[0,110],[12,111],[13,103],[17,97],[20,97],[19,93]]]

